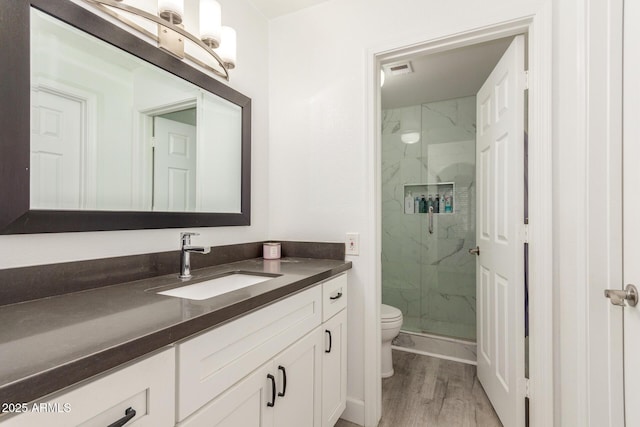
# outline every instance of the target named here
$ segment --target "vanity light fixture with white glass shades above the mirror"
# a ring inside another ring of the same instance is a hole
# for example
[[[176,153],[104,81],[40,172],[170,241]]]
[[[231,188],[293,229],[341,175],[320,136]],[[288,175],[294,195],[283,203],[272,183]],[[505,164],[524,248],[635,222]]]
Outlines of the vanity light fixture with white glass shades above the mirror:
[[[182,23],[184,0],[158,0],[157,16],[131,6],[123,0],[82,1],[116,18],[145,37],[155,40],[160,49],[169,52],[176,58],[187,58],[225,80],[229,80],[229,70],[236,66],[236,32],[233,28],[221,25],[222,13],[220,3],[216,0],[200,0],[200,37],[194,36],[184,28]],[[154,22],[157,24],[157,33],[137,24],[127,17],[127,14]],[[214,59],[215,64],[208,64],[185,52],[185,40],[199,46]]]

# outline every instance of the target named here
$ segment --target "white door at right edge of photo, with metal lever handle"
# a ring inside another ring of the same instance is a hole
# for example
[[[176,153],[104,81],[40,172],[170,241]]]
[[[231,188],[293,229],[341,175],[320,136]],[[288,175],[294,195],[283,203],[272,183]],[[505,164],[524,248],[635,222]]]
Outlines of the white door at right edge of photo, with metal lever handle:
[[[624,2],[623,283],[640,289],[640,2]],[[625,424],[640,425],[640,305],[624,308]]]

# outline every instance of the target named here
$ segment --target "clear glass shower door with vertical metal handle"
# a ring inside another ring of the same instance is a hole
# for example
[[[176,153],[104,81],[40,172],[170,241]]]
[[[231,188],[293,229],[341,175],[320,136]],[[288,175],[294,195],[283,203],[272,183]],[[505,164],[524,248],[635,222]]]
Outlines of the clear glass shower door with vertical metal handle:
[[[434,214],[421,221],[420,331],[475,341],[475,97],[422,105],[422,161]],[[451,209],[442,209],[443,196]]]

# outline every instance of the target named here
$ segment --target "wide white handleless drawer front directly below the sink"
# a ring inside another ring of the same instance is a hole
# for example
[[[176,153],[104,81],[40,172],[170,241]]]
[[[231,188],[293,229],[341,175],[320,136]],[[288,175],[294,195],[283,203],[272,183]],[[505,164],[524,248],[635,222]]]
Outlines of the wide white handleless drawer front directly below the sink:
[[[315,286],[177,346],[178,421],[320,325]]]

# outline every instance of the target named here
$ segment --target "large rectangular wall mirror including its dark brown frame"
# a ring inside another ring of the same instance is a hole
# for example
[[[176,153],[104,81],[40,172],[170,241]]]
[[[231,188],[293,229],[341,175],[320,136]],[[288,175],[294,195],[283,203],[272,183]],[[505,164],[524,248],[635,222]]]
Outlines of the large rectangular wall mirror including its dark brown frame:
[[[250,98],[69,0],[0,18],[1,234],[250,224]]]

